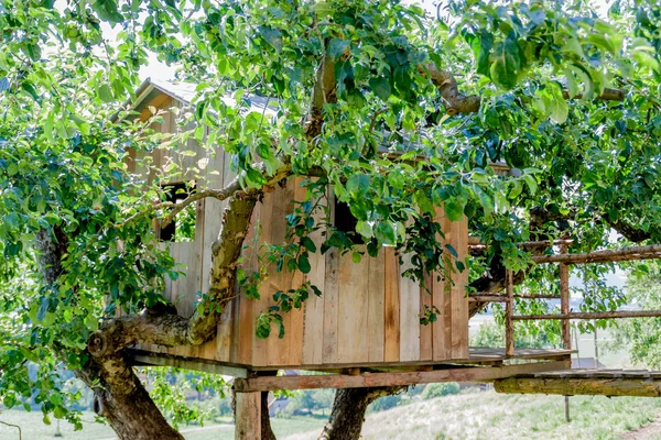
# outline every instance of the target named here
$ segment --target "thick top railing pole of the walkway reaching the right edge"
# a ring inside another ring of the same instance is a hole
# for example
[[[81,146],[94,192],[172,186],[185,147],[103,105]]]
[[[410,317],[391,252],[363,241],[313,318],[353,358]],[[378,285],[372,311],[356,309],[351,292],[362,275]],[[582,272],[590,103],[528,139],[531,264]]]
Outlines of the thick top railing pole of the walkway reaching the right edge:
[[[605,251],[594,251],[582,254],[533,255],[531,257],[531,260],[537,264],[590,264],[654,258],[661,258],[661,244],[651,244],[649,246],[631,246],[622,249],[607,249]]]

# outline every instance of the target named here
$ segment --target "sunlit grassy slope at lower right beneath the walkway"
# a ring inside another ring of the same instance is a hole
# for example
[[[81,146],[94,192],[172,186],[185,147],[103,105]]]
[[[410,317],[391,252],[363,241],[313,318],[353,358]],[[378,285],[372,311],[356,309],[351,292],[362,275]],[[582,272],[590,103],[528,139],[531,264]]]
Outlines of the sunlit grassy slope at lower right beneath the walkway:
[[[661,416],[661,399],[572,397],[572,421],[564,419],[564,397],[469,392],[418,400],[370,415],[365,440],[460,439],[619,439]],[[282,440],[312,440],[319,431]]]

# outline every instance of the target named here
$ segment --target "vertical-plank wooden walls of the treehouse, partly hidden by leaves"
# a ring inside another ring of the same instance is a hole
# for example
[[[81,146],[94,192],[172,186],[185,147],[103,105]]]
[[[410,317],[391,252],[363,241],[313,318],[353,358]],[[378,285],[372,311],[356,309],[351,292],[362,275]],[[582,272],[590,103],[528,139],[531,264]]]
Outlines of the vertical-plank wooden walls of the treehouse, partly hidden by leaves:
[[[170,98],[161,99],[158,103],[162,108],[182,106]],[[176,124],[167,113],[164,123],[155,129],[174,132]],[[198,182],[198,187],[220,188],[235,177],[229,169],[229,156],[223,152],[214,157],[193,141],[188,148],[196,152],[196,156],[192,157],[195,163],[203,157],[209,161],[205,182]],[[153,156],[154,164],[164,164],[163,152],[154,152]],[[132,170],[140,173],[140,169]],[[294,208],[292,201],[302,200],[305,196],[300,182],[291,179],[285,187],[264,195],[253,212],[251,237],[246,243],[254,238],[257,222],[261,228],[258,245],[284,241],[285,216]],[[170,280],[165,292],[165,297],[176,304],[182,316],[191,316],[195,294],[208,289],[210,245],[220,230],[225,206],[226,202],[215,199],[198,202],[195,240],[188,243],[163,243],[170,246],[175,261],[187,267],[184,271],[186,276]],[[442,209],[438,212],[441,216]],[[459,258],[465,258],[468,239],[466,221],[449,222],[442,217],[438,221],[447,243],[458,252]],[[315,235],[312,238],[318,249],[321,232],[317,231]],[[257,268],[257,258],[250,252],[246,258],[247,266]],[[324,255],[312,254],[310,263],[312,270],[305,275],[300,272],[278,273],[271,265],[269,277],[259,292],[261,298],[238,296],[232,299],[225,310],[216,338],[206,344],[174,349],[142,345],[141,349],[273,370],[424,364],[468,359],[468,300],[464,289],[467,271],[455,273],[454,283],[430,276],[426,280],[427,290],[401,276],[405,267],[400,267],[393,248],[382,248],[375,258],[366,253],[358,264],[353,263],[350,253],[339,256],[336,250]],[[283,314],[283,339],[278,338],[275,328],[268,339],[257,338],[256,319],[274,304],[273,294],[296,288],[305,280],[316,285],[323,295],[317,297],[311,293],[302,309]],[[424,306],[435,306],[440,311],[437,320],[427,326],[420,323]]]

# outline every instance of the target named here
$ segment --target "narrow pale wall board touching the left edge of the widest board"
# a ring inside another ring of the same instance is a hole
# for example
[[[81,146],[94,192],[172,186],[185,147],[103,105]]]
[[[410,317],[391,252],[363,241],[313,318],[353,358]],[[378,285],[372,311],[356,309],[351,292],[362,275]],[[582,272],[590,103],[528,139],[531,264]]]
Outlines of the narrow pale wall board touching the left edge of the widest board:
[[[324,276],[324,340],[322,362],[337,363],[337,314],[339,301],[339,257],[337,249],[326,252]]]

